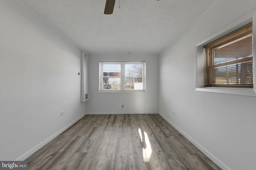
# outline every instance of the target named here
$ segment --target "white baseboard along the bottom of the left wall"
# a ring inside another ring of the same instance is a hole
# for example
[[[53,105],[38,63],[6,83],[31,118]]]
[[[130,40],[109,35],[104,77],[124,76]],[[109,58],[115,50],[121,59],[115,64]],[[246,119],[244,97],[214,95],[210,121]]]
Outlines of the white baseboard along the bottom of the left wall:
[[[38,149],[42,148],[44,145],[46,145],[48,142],[50,142],[52,139],[56,138],[59,134],[61,134],[62,132],[64,132],[66,129],[68,129],[69,127],[71,127],[72,125],[74,125],[74,123],[76,123],[77,121],[79,121],[82,117],[84,117],[83,114],[80,117],[78,117],[76,120],[72,121],[70,124],[66,125],[64,128],[60,129],[58,132],[54,133],[52,136],[50,136],[49,138],[47,138],[46,140],[42,141],[41,143],[37,144],[36,146],[34,146],[33,148],[31,148],[30,150],[28,150],[27,152],[25,152],[24,154],[22,154],[21,156],[19,156],[18,158],[15,159],[15,161],[18,160],[25,160],[26,158],[28,158],[28,156],[32,155],[34,152],[36,152]]]

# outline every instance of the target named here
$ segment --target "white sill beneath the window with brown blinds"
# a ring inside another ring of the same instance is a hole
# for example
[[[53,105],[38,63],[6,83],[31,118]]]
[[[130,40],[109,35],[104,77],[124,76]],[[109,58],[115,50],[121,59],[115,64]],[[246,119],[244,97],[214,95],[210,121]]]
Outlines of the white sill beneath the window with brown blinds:
[[[226,87],[203,87],[203,88],[196,88],[195,91],[256,97],[256,93],[254,89],[244,89],[244,88],[242,89],[242,88],[226,88]]]

